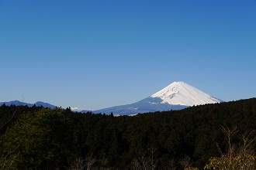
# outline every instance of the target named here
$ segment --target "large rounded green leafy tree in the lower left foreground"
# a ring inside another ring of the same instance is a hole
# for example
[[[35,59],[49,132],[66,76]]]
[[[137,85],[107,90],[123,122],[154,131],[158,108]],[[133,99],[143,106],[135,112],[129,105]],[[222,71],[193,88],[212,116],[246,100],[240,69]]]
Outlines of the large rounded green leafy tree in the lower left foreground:
[[[1,137],[6,165],[19,169],[56,168],[67,164],[71,122],[61,109],[23,114]]]

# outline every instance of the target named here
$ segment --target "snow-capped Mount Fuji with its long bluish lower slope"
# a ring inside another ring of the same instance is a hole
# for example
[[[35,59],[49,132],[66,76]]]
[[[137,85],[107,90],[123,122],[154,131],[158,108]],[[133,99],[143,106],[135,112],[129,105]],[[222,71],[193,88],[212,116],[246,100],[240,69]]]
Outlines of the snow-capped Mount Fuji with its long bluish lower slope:
[[[212,97],[185,82],[174,82],[150,97],[133,104],[92,111],[95,114],[132,115],[164,110],[181,110],[202,104],[215,104],[223,100]]]

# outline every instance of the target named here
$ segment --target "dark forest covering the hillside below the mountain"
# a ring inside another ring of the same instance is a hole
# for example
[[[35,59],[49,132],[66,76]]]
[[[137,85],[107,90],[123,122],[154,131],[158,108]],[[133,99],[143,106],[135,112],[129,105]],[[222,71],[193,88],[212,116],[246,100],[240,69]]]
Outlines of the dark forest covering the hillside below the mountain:
[[[256,98],[119,116],[2,105],[0,169],[256,169]]]

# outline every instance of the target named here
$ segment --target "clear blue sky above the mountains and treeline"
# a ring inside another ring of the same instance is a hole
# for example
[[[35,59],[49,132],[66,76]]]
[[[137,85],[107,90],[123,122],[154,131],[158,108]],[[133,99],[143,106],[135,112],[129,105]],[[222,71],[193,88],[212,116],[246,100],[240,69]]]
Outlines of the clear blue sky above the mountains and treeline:
[[[174,81],[256,97],[256,1],[1,0],[0,101],[89,110]]]

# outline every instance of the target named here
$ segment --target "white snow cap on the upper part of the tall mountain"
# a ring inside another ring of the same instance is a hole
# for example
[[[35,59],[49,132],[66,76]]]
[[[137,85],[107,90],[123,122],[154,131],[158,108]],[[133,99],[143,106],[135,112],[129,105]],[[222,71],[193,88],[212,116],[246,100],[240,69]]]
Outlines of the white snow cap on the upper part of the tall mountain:
[[[171,105],[185,106],[214,104],[222,101],[196,89],[195,87],[192,87],[185,82],[171,83],[168,87],[164,87],[164,89],[154,93],[150,97],[161,98],[162,104],[168,103]]]

